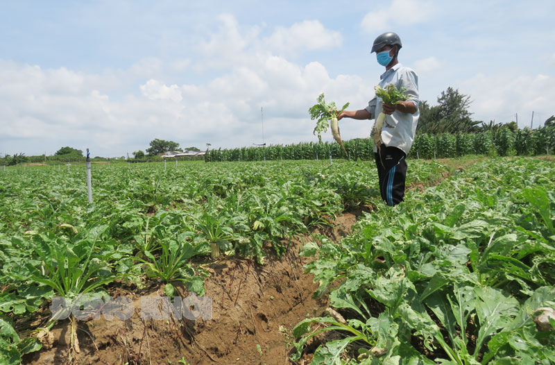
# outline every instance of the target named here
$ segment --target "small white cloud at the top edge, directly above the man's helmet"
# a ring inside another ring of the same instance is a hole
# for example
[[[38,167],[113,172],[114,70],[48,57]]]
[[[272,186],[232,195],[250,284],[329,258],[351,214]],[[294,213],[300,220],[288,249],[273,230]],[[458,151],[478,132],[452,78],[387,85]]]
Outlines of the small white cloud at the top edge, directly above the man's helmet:
[[[368,12],[361,27],[368,33],[375,33],[395,25],[411,26],[425,22],[434,12],[431,1],[393,0],[388,8]]]

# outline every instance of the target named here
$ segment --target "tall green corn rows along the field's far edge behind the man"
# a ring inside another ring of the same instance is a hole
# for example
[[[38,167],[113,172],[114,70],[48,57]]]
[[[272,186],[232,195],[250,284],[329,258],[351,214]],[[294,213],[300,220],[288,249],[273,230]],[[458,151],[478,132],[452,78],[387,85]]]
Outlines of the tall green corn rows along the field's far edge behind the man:
[[[264,147],[243,147],[207,151],[206,162],[262,160],[322,160],[344,158],[371,160],[373,142],[369,138],[343,141],[347,155],[335,142],[276,144]],[[480,133],[417,134],[410,158],[453,158],[463,155],[546,155],[555,150],[555,126],[538,129],[499,128]]]

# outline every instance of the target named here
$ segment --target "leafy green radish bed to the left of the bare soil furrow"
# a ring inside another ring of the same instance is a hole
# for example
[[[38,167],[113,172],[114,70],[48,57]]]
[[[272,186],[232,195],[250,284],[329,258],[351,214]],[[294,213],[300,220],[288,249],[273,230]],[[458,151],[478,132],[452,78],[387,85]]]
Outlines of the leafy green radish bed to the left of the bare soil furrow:
[[[411,164],[410,179],[440,171]],[[379,199],[376,183],[368,162],[95,165],[89,204],[85,167],[1,171],[0,363],[40,348],[28,337],[39,328],[17,323],[53,296],[103,296],[114,281],[131,289],[147,280],[164,283],[168,296],[177,282],[202,295],[198,262],[218,254],[263,262],[266,247],[282,255],[291,236]]]

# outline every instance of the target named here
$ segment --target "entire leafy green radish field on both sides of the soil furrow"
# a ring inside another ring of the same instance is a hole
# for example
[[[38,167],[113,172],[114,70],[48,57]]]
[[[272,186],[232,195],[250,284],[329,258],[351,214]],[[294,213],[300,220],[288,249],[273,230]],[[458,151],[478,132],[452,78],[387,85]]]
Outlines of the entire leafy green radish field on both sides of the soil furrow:
[[[554,181],[553,160],[410,160],[392,208],[371,162],[94,164],[88,203],[84,165],[6,169],[0,364],[42,351],[60,321],[79,359],[85,321],[51,313],[54,297],[203,296],[211,262],[263,266],[295,237],[335,315],[284,329],[290,364],[552,364]],[[322,233],[353,211],[350,234]]]

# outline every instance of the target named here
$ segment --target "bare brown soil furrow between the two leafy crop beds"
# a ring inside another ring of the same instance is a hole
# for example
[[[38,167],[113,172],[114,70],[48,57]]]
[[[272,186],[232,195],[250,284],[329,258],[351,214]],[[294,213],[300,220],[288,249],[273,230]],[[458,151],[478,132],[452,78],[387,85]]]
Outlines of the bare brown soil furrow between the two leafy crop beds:
[[[337,217],[334,226],[321,233],[334,240],[350,234],[355,214]],[[110,296],[133,300],[134,315],[124,321],[103,316],[78,321],[80,352],[72,352],[74,364],[182,364],[180,359],[187,365],[291,364],[291,330],[328,306],[327,298],[312,298],[318,285],[302,267],[309,259],[299,255],[300,248],[309,239],[293,239],[284,257],[268,254],[264,265],[237,258],[208,264],[205,296],[212,298],[210,320],[142,319],[139,295],[163,296],[163,285],[151,283],[141,293],[112,287]],[[188,295],[185,287],[174,285],[180,296]],[[70,333],[69,320],[60,321],[52,329],[49,346],[26,355],[23,364],[68,364]]]

